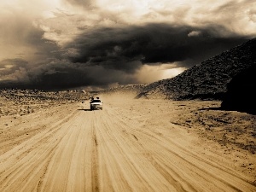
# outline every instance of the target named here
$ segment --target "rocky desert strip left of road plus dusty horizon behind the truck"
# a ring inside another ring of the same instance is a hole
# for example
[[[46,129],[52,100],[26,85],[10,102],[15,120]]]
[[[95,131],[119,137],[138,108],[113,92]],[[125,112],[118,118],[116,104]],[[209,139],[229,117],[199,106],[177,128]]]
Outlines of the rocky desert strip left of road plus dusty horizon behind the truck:
[[[89,100],[90,96],[117,95],[137,96],[144,84],[119,85],[108,90],[85,92],[84,90],[0,90],[0,118],[6,115],[25,115],[55,105],[76,103]]]

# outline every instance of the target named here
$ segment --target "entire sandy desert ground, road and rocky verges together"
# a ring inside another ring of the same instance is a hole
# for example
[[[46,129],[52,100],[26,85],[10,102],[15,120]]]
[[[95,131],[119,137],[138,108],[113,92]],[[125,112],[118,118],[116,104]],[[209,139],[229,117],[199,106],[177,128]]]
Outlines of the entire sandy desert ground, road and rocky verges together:
[[[256,116],[219,101],[0,98],[0,191],[256,191]]]

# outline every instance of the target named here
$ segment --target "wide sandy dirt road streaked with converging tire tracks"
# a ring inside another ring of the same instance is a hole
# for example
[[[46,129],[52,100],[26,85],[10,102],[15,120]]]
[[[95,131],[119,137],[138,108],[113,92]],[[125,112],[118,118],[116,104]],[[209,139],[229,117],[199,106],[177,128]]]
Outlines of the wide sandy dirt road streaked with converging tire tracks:
[[[0,191],[256,191],[250,177],[170,122],[172,102],[161,105],[70,104],[2,119]]]

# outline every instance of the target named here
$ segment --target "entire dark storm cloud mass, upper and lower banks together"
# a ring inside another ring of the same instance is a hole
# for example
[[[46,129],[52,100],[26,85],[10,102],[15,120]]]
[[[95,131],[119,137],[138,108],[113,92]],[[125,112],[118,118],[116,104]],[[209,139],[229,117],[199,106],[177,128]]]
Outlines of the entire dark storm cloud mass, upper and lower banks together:
[[[137,84],[143,64],[177,62],[193,65],[244,42],[246,37],[221,37],[224,28],[150,24],[125,28],[98,28],[84,32],[65,48],[45,41],[32,31],[29,43],[40,45],[44,60],[0,62],[0,88],[58,90],[82,86],[106,88],[110,84]],[[228,31],[225,31],[226,33]]]

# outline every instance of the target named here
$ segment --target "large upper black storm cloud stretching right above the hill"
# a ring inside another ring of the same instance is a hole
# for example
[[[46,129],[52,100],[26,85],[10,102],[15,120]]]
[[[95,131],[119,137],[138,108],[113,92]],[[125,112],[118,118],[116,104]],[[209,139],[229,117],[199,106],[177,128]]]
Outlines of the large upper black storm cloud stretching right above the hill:
[[[145,63],[156,65],[181,61],[180,67],[192,67],[246,39],[232,32],[227,38],[221,37],[218,32],[223,31],[228,32],[221,26],[195,28],[166,24],[102,28],[86,32],[69,44],[69,48],[75,48],[79,53],[71,56],[70,61],[130,73]]]

